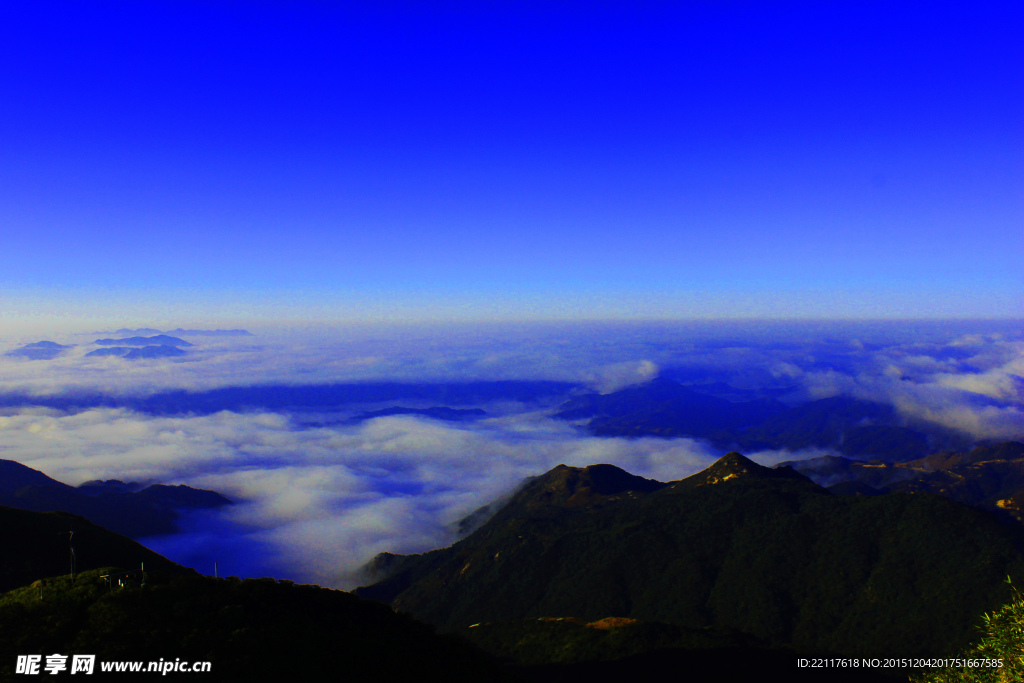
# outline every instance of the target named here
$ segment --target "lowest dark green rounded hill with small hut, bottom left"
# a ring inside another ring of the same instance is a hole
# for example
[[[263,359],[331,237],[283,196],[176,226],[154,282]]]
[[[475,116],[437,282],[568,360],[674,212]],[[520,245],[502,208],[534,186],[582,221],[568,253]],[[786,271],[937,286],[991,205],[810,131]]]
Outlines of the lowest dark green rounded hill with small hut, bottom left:
[[[97,673],[104,660],[210,661],[215,681],[508,680],[467,643],[343,591],[161,572],[112,589],[110,571],[0,597],[0,679],[18,654],[61,653],[97,655]]]

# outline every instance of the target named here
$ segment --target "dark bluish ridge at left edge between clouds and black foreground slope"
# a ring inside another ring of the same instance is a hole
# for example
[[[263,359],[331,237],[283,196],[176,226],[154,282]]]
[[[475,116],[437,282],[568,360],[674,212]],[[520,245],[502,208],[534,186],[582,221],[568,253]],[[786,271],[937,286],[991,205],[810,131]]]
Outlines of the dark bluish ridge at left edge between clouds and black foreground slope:
[[[0,505],[35,512],[63,510],[119,533],[140,539],[177,530],[178,510],[216,508],[231,502],[212,490],[156,484],[141,490],[90,482],[69,486],[12,460],[0,460]]]

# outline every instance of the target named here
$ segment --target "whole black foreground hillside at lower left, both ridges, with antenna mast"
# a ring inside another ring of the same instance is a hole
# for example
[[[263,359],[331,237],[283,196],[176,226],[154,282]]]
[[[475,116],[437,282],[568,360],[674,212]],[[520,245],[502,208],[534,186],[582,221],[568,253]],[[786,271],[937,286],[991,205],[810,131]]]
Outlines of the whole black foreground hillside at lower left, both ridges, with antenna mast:
[[[352,680],[515,680],[464,641],[379,603],[273,579],[200,577],[67,513],[0,507],[0,543],[3,679],[15,678],[18,655],[56,652],[96,655],[100,679],[104,661],[182,660],[209,661],[206,678],[229,682],[335,680],[339,670]]]

